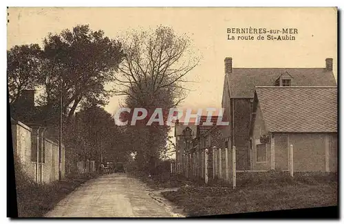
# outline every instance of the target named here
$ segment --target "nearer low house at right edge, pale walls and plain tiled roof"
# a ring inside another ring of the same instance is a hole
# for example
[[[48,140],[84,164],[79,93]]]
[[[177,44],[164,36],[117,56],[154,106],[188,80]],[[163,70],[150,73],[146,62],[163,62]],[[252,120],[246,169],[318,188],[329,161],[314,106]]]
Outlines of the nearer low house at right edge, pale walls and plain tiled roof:
[[[252,170],[336,172],[337,88],[256,87],[250,125]]]

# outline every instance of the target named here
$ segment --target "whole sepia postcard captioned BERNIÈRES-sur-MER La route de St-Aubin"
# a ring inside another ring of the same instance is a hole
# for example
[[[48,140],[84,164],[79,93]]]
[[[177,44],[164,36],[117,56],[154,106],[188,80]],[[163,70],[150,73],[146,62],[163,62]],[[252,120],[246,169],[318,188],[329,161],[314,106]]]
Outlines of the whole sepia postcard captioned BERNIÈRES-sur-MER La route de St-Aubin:
[[[337,14],[8,8],[8,210],[338,216]]]

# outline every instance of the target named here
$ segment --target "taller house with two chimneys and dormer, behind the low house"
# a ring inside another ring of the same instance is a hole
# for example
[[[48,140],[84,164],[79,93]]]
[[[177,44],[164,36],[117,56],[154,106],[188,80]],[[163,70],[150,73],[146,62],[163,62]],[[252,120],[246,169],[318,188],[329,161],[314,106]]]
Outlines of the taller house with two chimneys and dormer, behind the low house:
[[[332,58],[319,68],[233,68],[232,58],[225,58],[222,108],[228,148],[236,146],[237,170],[250,170],[250,123],[255,87],[336,87]],[[278,96],[276,96],[278,97]]]

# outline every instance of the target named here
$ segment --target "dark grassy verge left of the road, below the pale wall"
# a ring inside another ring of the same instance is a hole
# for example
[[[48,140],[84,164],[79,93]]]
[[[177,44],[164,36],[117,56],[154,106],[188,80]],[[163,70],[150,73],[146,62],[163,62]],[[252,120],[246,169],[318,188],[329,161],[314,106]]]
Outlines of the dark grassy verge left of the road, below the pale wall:
[[[95,177],[98,174],[74,174],[61,181],[39,184],[30,180],[19,168],[16,171],[18,217],[43,217],[67,194]]]

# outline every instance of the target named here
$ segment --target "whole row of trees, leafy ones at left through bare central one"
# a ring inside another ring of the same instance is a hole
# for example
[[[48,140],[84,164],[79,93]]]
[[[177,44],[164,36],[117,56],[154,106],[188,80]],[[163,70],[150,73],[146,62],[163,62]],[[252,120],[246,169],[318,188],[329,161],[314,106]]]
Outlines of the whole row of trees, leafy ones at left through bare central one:
[[[9,100],[15,104],[24,89],[37,89],[41,93],[37,103],[54,113],[47,115],[47,120],[56,123],[62,97],[64,142],[73,144],[74,113],[80,110],[84,157],[97,157],[100,148],[107,149],[109,155],[111,148],[116,148],[118,155],[135,153],[137,164],[147,169],[166,153],[170,127],[155,123],[116,126],[102,106],[116,94],[125,96],[123,107],[149,111],[176,107],[188,91],[184,87],[189,81],[186,75],[199,60],[190,39],[170,27],[136,30],[113,40],[102,30],[78,25],[49,34],[42,48],[32,44],[8,50]],[[105,89],[109,83],[115,88]]]

